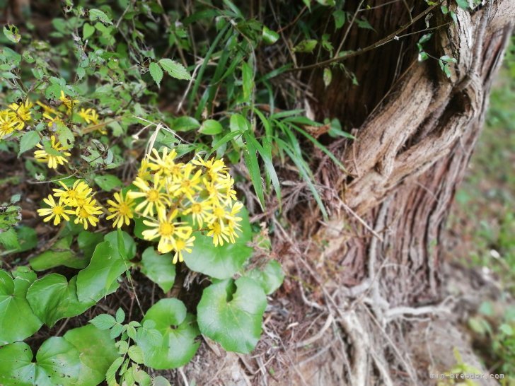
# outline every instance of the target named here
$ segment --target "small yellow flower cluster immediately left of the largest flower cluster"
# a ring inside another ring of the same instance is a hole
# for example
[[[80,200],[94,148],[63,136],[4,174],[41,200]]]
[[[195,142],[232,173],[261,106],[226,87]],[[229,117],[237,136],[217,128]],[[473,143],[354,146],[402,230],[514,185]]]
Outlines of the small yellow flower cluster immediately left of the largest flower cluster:
[[[98,215],[102,209],[97,205],[96,199],[91,194],[92,189],[83,180],[76,180],[72,187],[67,187],[59,181],[62,189],[54,189],[54,193],[43,199],[48,208],[37,209],[37,214],[45,217],[43,221],[48,222],[54,219],[54,226],[61,223],[62,218],[69,221],[69,215],[75,216],[75,223],[80,223],[84,229],[88,225],[98,224]]]

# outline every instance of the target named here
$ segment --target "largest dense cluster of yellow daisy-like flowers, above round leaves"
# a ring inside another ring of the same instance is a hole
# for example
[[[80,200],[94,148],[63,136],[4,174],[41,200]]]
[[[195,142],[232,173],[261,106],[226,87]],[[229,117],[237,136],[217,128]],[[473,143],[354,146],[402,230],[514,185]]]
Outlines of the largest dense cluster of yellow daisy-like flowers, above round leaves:
[[[241,231],[234,180],[223,160],[177,162],[175,150],[167,148],[141,161],[133,185],[137,190],[108,201],[113,227],[121,227],[134,215],[144,218],[145,240],[158,239],[158,251],[174,251],[173,263],[183,262],[183,251],[191,252],[195,230],[207,232],[215,246],[235,242]]]

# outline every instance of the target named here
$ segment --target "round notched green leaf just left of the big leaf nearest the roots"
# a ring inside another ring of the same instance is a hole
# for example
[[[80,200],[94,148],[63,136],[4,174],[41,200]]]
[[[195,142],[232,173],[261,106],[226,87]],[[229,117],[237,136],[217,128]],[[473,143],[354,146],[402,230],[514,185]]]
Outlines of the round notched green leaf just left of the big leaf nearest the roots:
[[[147,312],[142,320],[153,321],[155,329],[163,336],[161,345],[138,334],[137,345],[144,355],[145,365],[158,370],[178,368],[188,363],[197,352],[199,335],[193,315],[186,313],[186,307],[180,300],[165,298],[159,300]]]

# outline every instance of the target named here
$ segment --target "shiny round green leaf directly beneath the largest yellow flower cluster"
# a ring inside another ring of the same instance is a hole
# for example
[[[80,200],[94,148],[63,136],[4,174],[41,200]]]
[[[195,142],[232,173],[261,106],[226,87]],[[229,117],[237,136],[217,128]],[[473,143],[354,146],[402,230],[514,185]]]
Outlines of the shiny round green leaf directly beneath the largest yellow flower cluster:
[[[245,209],[241,211],[241,218],[242,232],[234,244],[227,242],[215,247],[212,238],[197,232],[192,252],[183,253],[187,267],[216,279],[228,279],[236,274],[253,252],[247,247],[252,240],[252,229]]]

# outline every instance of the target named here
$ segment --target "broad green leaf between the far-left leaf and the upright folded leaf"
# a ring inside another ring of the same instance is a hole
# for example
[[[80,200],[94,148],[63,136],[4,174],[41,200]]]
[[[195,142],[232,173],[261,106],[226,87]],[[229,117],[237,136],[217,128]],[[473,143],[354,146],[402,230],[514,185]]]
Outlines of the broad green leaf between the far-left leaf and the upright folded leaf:
[[[50,274],[36,280],[27,291],[27,300],[40,320],[52,327],[64,317],[81,315],[95,304],[94,301],[79,302],[76,288],[77,276],[70,282],[59,274]]]

